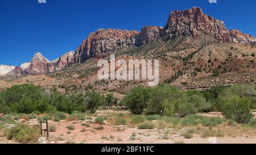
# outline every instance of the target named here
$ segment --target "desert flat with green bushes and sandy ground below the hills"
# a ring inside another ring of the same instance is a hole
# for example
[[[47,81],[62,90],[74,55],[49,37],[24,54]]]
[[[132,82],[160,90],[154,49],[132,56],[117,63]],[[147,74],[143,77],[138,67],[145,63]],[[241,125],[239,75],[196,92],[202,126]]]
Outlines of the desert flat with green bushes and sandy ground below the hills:
[[[73,96],[54,90],[46,95],[44,89],[32,85],[13,89],[15,94],[12,89],[0,93],[5,105],[1,111],[6,114],[0,117],[0,133],[5,137],[1,143],[39,143],[38,138],[44,136],[39,123],[46,121],[48,143],[187,144],[209,143],[210,137],[217,137],[220,143],[241,143],[241,137],[244,143],[253,143],[256,137],[256,91],[251,85],[217,86],[209,91],[181,91],[166,83],[137,86],[118,101],[128,111],[120,109],[110,99],[112,95],[105,98],[91,92]],[[30,108],[19,103],[24,102],[23,91]],[[96,107],[90,105],[99,101]]]

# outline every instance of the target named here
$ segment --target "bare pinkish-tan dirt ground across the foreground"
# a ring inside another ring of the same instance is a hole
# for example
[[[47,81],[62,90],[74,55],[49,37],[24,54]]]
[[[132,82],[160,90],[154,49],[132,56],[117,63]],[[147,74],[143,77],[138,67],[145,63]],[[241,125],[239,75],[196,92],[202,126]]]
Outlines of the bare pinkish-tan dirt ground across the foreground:
[[[120,111],[98,111],[97,115],[114,115]],[[208,114],[199,114],[204,116],[220,116],[217,112],[211,112]],[[191,139],[185,139],[181,136],[181,133],[189,128],[170,128],[170,129],[138,129],[133,125],[113,125],[109,120],[105,121],[104,129],[97,130],[95,127],[100,126],[94,123],[96,116],[92,116],[92,119],[86,119],[84,121],[67,121],[61,120],[60,122],[54,122],[49,120],[49,125],[55,125],[56,132],[50,132],[49,139],[46,143],[50,144],[64,144],[64,143],[76,143],[76,144],[173,144],[173,143],[185,143],[185,144],[255,144],[256,143],[256,130],[254,128],[242,127],[242,126],[229,126],[224,124],[216,127],[201,127],[195,129],[198,132],[193,133]],[[22,122],[22,120],[20,120]],[[23,120],[24,122],[24,120]],[[82,126],[83,123],[89,124],[89,127]],[[34,125],[38,124],[36,119],[31,119],[26,124]],[[73,125],[74,130],[68,130],[67,126]],[[84,131],[82,131],[84,130]],[[200,132],[201,131],[201,132]],[[220,137],[204,137],[203,131],[219,131],[223,135]],[[133,135],[133,136],[132,136]],[[0,133],[0,143],[15,143],[14,141],[7,140]]]

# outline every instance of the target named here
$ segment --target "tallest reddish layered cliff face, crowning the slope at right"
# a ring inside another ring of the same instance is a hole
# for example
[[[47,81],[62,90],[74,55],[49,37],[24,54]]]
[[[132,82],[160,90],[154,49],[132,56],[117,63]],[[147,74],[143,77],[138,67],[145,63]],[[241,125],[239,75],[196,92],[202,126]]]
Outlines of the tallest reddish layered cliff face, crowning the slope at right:
[[[228,31],[224,22],[203,13],[200,7],[171,12],[167,25],[160,32],[164,39],[171,39],[179,35],[197,37],[200,33],[213,36],[217,40],[235,43],[251,43],[255,37],[244,35],[238,31]]]

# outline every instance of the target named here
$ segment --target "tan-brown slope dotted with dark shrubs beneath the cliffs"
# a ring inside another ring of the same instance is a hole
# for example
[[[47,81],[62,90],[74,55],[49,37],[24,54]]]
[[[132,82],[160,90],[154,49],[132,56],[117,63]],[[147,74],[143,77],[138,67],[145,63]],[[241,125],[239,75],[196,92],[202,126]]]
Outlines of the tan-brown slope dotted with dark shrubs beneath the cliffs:
[[[234,83],[254,84],[256,48],[248,44],[221,43],[213,37],[201,35],[197,39],[189,36],[176,37],[164,41],[160,37],[139,47],[119,48],[112,54],[116,59],[157,59],[160,61],[160,82],[168,82],[182,89],[200,89],[209,80],[210,85],[232,85]],[[109,55],[105,58],[108,60]],[[89,84],[96,90],[118,90],[125,93],[139,83],[147,85],[147,81],[113,81],[97,78],[97,61],[90,58],[83,64],[75,64],[60,72],[51,74],[64,85],[77,85],[85,89]],[[230,76],[238,76],[230,78]],[[222,76],[222,74],[226,76]],[[221,76],[221,81],[217,79]],[[243,78],[250,80],[241,80]],[[216,79],[216,80],[213,80]],[[205,82],[200,82],[205,81]]]

